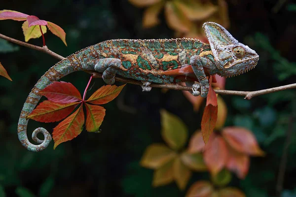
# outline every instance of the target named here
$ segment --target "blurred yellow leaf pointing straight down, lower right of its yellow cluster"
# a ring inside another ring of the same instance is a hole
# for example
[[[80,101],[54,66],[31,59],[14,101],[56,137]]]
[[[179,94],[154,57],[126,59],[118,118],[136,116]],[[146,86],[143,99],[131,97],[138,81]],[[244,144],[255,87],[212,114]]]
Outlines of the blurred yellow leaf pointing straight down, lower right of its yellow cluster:
[[[180,190],[184,190],[191,177],[191,171],[183,164],[180,157],[174,162],[174,177]]]

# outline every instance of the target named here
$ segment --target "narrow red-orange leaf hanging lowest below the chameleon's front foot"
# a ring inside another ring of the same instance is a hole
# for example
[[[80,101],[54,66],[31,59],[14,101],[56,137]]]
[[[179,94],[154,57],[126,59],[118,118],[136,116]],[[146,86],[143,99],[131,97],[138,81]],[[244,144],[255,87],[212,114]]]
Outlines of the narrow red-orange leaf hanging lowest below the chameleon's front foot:
[[[218,106],[207,105],[201,119],[201,133],[205,143],[208,142],[217,122]]]

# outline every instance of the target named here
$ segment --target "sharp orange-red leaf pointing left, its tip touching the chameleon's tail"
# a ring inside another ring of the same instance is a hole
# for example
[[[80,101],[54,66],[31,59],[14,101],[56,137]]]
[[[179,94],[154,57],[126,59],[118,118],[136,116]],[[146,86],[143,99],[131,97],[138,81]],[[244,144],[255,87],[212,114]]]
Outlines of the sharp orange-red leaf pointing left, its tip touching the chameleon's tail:
[[[27,116],[27,118],[42,123],[60,121],[66,118],[78,104],[78,102],[61,104],[50,100],[44,100]]]

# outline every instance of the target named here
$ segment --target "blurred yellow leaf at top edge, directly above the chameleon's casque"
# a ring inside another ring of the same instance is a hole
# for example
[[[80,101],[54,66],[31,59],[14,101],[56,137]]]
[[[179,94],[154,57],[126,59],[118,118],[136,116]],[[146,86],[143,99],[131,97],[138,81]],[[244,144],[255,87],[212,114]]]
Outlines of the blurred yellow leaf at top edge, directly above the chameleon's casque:
[[[213,15],[218,10],[218,7],[209,1],[202,3],[201,1],[197,0],[176,0],[175,3],[176,6],[180,8],[184,16],[190,21],[204,20]]]

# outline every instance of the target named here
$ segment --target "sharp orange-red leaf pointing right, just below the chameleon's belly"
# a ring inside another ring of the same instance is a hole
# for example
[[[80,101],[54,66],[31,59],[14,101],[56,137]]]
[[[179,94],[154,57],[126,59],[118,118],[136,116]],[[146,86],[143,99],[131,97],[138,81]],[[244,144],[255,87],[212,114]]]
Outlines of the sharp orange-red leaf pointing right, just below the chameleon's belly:
[[[125,84],[119,87],[115,85],[102,86],[100,89],[94,92],[94,94],[92,94],[92,96],[90,96],[90,98],[86,101],[92,104],[108,103],[119,95],[124,86]]]

